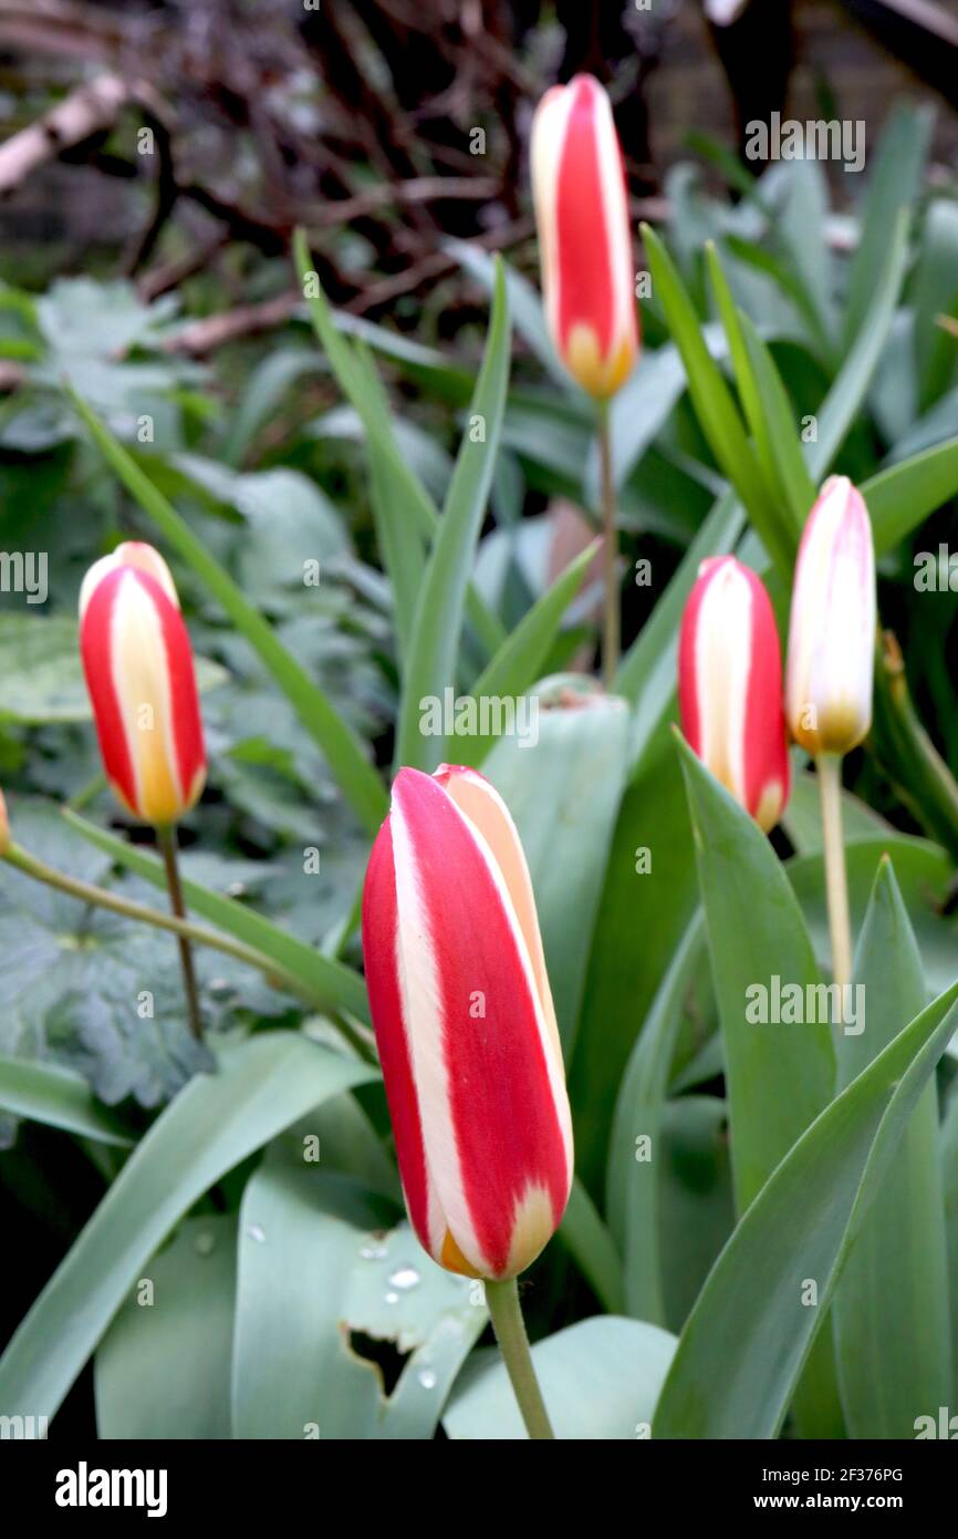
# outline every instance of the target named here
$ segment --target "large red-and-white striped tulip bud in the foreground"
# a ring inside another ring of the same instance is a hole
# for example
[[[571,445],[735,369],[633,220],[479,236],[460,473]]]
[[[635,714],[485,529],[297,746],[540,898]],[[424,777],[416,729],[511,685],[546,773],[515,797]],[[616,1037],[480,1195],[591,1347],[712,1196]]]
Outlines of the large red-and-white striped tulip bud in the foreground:
[[[563,1057],[515,825],[475,770],[401,770],[366,871],[363,956],[409,1219],[503,1279],[572,1182]]]

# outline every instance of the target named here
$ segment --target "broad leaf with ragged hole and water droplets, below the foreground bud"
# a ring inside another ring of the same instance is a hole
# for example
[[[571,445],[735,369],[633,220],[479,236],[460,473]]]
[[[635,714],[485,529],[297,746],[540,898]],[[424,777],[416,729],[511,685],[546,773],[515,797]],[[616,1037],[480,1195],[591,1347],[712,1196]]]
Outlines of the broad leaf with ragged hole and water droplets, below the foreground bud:
[[[320,1137],[320,1143],[321,1143]],[[232,1371],[235,1437],[431,1437],[486,1311],[407,1224],[275,1140],[243,1194]],[[317,1287],[321,1279],[321,1287]],[[386,1399],[351,1334],[409,1354]]]

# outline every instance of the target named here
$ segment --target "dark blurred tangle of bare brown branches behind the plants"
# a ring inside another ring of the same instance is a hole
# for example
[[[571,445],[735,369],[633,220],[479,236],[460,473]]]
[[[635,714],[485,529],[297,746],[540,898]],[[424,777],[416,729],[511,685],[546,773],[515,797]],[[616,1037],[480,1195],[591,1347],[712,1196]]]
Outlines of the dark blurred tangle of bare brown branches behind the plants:
[[[0,159],[3,268],[181,292],[220,317],[181,339],[200,354],[283,322],[303,222],[337,303],[421,328],[435,295],[441,331],[461,319],[443,237],[534,263],[526,139],[554,80],[609,86],[655,214],[690,148],[707,166],[777,111],[873,142],[918,91],[946,108],[932,165],[953,166],[956,66],[953,0],[0,0],[0,131],[38,125]],[[860,188],[827,169],[841,206]]]

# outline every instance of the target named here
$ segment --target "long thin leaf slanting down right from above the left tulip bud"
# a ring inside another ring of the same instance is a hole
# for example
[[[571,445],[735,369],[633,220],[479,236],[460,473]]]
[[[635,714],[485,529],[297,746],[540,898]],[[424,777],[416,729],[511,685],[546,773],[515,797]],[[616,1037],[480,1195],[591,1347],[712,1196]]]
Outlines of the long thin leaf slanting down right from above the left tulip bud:
[[[334,709],[323,691],[297,659],[283,646],[260,611],[251,605],[232,577],[192,532],[175,508],[152,485],[123,445],[112,436],[75,392],[71,399],[89,432],[114,469],[163,537],[178,551],[217,599],[237,629],[258,653],[283,694],[295,706],[300,720],[320,745],[343,796],[357,817],[374,833],[389,811],[383,783],[366,759],[366,751],[352,728]]]

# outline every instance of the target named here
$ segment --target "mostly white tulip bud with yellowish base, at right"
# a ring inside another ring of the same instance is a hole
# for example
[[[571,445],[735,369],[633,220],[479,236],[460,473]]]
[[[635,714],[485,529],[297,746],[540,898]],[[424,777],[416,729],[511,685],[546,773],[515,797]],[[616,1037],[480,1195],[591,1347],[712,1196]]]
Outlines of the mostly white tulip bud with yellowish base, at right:
[[[812,508],[795,566],[786,716],[810,754],[847,754],[872,725],[875,551],[861,492],[832,476]]]

